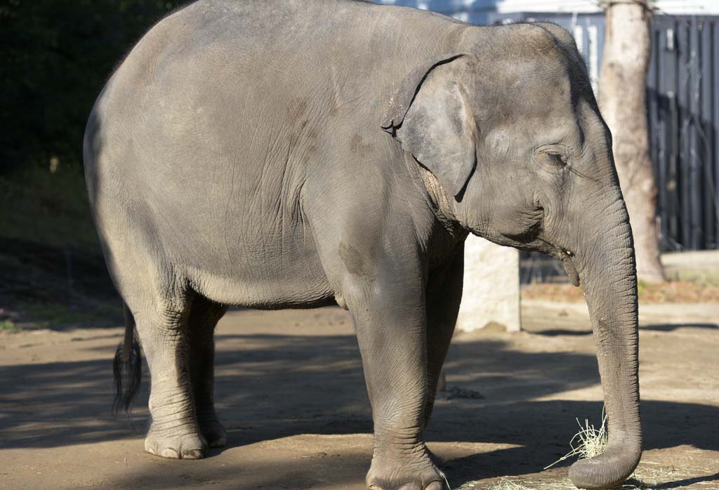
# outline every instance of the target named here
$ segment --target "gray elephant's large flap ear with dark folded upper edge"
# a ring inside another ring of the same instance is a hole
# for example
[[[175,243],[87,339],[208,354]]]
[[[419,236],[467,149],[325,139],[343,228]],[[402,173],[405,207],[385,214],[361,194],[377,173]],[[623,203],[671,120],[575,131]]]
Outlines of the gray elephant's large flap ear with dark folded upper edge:
[[[468,53],[429,60],[403,80],[382,128],[457,197],[477,162],[477,127],[459,75]],[[466,73],[466,70],[465,70]]]

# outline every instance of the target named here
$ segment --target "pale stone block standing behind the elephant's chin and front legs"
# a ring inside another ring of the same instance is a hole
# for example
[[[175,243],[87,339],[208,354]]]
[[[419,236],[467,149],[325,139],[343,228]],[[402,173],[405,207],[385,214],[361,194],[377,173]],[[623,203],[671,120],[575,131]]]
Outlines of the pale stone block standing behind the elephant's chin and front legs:
[[[519,251],[470,235],[464,244],[464,292],[457,328],[465,332],[494,322],[521,329]]]

